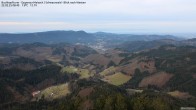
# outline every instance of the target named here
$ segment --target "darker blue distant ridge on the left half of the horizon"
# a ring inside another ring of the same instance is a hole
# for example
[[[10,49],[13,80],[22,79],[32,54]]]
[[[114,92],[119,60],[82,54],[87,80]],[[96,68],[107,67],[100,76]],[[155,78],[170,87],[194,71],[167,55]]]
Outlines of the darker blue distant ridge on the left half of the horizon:
[[[85,38],[85,40],[82,38]],[[93,40],[91,34],[84,31],[47,31],[24,34],[0,34],[0,43],[85,43],[88,40]]]

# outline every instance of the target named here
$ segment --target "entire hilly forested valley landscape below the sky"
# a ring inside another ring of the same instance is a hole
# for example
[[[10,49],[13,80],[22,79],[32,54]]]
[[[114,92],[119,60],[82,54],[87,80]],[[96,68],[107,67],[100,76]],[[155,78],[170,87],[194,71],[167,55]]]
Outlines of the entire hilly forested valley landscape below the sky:
[[[0,42],[2,110],[196,107],[194,39],[51,31]]]

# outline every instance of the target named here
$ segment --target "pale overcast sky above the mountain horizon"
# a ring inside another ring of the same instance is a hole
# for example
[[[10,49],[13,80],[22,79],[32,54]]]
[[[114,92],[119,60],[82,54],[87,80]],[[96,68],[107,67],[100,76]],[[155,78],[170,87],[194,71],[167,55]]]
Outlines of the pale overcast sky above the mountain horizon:
[[[76,1],[83,1],[86,4],[0,6],[0,33],[50,30],[151,34],[196,33],[196,0]]]

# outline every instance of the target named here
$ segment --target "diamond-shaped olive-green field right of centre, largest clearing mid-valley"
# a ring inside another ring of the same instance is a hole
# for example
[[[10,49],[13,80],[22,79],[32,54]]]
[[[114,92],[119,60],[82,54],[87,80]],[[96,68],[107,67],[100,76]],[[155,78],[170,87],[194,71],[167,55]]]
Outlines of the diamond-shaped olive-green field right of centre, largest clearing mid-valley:
[[[131,76],[124,75],[124,74],[118,72],[118,73],[115,73],[113,75],[105,76],[103,78],[103,81],[106,81],[110,84],[119,86],[119,85],[122,85],[122,84],[126,83],[130,79],[131,79]]]

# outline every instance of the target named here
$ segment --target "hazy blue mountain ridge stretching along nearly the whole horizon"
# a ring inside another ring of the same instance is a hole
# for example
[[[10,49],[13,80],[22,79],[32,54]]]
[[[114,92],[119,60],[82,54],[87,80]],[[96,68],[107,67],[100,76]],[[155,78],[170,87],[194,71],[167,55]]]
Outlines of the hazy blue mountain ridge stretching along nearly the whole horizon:
[[[172,35],[133,35],[133,34],[114,34],[114,33],[87,33],[85,31],[46,31],[35,33],[20,33],[9,34],[0,33],[0,43],[82,43],[82,44],[94,44],[100,40],[118,44],[125,41],[152,41],[158,39],[174,39],[182,40]]]

